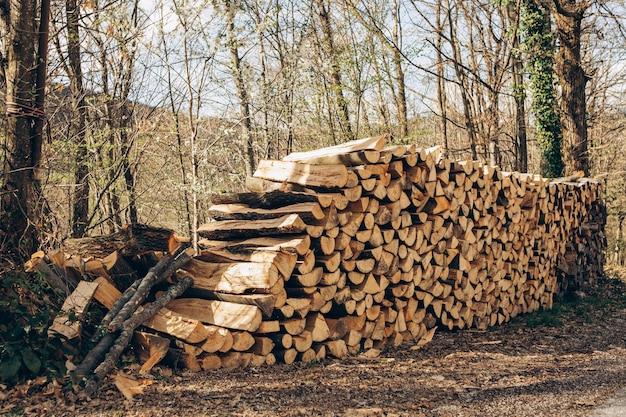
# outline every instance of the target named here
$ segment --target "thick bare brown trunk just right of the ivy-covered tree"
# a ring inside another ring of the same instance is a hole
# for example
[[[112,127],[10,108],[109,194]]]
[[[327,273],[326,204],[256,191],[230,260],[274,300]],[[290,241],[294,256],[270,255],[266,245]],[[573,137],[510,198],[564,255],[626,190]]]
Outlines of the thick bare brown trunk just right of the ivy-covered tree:
[[[553,15],[559,39],[556,71],[561,84],[565,175],[576,171],[583,171],[585,175],[589,175],[585,94],[588,79],[581,63],[580,37],[584,12],[590,5],[587,1],[554,1]]]

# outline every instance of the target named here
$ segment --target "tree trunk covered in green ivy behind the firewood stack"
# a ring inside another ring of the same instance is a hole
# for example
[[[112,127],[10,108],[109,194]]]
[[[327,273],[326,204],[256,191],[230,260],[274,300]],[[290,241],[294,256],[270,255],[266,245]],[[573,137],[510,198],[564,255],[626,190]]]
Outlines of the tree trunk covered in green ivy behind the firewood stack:
[[[526,0],[522,5],[521,31],[541,152],[541,174],[548,178],[560,177],[564,170],[563,133],[556,99],[554,41],[550,16],[534,0]]]

